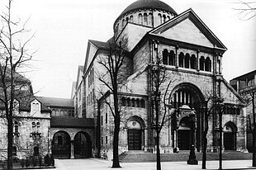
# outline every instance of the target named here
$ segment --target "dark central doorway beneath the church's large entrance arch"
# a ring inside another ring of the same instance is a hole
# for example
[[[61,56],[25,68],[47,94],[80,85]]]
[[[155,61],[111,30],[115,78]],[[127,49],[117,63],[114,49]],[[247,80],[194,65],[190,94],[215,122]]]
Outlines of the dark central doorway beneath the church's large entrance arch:
[[[191,145],[189,117],[183,117],[178,127],[178,149],[188,150]]]

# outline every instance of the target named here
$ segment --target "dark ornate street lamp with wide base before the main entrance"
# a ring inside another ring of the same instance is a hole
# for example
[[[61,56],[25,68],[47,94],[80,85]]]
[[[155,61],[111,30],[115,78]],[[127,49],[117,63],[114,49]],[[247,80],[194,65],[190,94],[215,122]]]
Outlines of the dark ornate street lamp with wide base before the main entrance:
[[[187,160],[187,164],[191,165],[198,165],[198,161],[195,154],[195,139],[194,139],[194,133],[195,133],[195,122],[196,122],[196,114],[194,111],[191,111],[189,114],[189,124],[190,124],[190,133],[191,133],[191,148],[189,153],[189,159]]]

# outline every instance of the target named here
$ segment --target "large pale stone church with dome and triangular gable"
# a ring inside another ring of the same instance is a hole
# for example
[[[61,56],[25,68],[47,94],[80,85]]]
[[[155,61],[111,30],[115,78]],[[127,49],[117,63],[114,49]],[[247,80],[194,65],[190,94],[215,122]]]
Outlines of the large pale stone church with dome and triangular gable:
[[[225,99],[222,119],[224,148],[246,150],[242,121],[244,101],[222,75],[222,57],[227,49],[192,9],[177,14],[172,7],[159,0],[138,0],[121,12],[113,28],[114,37],[118,40],[127,38],[127,51],[130,53],[126,58],[127,78],[120,92],[124,108],[120,153],[129,150],[155,152],[152,128],[154,87],[149,72],[150,65],[155,64],[158,57],[167,75],[173,77],[174,81],[168,88],[169,104],[172,105],[169,114],[178,117],[178,128],[168,124],[161,132],[161,152],[189,149],[192,141],[188,116],[192,111],[197,115],[196,149],[201,151],[205,109],[201,103],[206,101],[209,93]],[[88,40],[83,74],[79,66],[77,91],[73,92],[81,94],[85,101],[82,115],[94,118],[94,152],[108,159],[112,158],[113,117],[105,101],[111,102],[112,96],[97,76],[107,73],[98,61],[107,58],[111,40]],[[83,84],[84,92],[80,84]],[[164,87],[167,87],[167,82]],[[75,110],[81,110],[79,106],[75,105],[78,107]],[[208,148],[212,151],[218,147],[217,119],[215,112],[209,122]]]

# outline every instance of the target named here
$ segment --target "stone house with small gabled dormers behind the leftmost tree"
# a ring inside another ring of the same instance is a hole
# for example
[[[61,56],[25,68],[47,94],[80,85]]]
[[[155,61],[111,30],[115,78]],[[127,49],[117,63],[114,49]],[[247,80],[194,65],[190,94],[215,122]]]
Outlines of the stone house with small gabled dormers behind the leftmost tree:
[[[50,153],[50,109],[33,96],[31,81],[15,73],[13,155],[17,158]],[[2,92],[1,92],[2,96]],[[7,119],[0,103],[0,159],[7,158]]]

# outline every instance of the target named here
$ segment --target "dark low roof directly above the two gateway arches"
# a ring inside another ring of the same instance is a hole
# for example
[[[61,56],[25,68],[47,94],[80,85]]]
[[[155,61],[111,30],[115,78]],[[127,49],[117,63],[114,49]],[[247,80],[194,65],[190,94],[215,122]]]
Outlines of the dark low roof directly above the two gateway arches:
[[[94,120],[89,118],[52,116],[50,127],[94,128]]]

